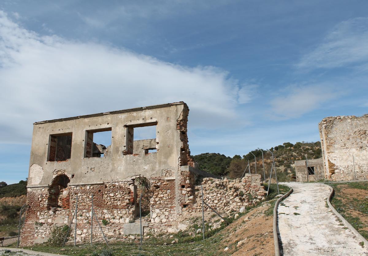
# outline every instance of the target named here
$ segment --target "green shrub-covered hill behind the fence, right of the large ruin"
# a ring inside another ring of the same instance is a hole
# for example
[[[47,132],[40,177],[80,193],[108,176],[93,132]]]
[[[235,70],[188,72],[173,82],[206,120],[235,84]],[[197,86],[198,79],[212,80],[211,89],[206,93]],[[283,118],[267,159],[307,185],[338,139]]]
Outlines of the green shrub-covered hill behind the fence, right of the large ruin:
[[[293,167],[294,161],[304,160],[305,157],[308,159],[322,157],[321,143],[319,141],[297,142],[295,144],[285,142],[283,145],[271,147],[269,150],[275,158],[278,181],[293,181],[292,176],[295,174]],[[247,168],[248,160],[251,173],[255,173],[254,156],[251,153],[256,156],[257,173],[261,173],[263,177],[262,152],[259,149],[252,150],[250,153],[243,155],[243,157],[235,155],[231,158],[220,153],[203,153],[193,157],[199,163],[201,170],[219,176],[238,178],[241,177]],[[268,151],[263,150],[263,158],[266,177],[269,177],[272,166],[272,155]],[[249,169],[247,169],[248,171]]]

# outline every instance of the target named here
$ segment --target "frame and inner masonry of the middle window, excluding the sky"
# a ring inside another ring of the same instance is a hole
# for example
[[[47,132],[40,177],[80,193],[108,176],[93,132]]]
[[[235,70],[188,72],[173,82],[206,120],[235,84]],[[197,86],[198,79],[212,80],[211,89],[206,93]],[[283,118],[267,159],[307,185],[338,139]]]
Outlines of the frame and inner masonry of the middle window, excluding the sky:
[[[101,156],[102,154],[103,154],[103,157],[106,157],[107,148],[112,145],[113,136],[111,136],[110,145],[106,147],[105,145],[102,145],[102,144],[96,144],[93,141],[93,134],[97,132],[107,132],[107,131],[112,131],[112,127],[86,130],[85,140],[84,140],[85,142],[84,143],[84,158],[102,157]],[[109,153],[111,154],[111,152]]]

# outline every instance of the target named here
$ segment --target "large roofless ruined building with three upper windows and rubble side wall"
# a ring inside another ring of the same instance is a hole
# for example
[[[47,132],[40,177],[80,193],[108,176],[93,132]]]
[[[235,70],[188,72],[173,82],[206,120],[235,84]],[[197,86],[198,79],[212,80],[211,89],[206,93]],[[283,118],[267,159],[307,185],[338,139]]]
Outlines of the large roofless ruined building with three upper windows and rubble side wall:
[[[200,211],[196,178],[219,177],[195,168],[188,147],[188,113],[187,104],[177,102],[35,122],[21,245],[45,242],[54,225],[69,224],[77,195],[77,242],[91,235],[92,194],[99,220],[109,223],[103,226],[107,237],[139,233],[137,177],[142,176],[151,184],[150,194],[142,199],[150,216],[143,223],[145,230],[168,230],[185,211]],[[154,138],[135,140],[137,128],[149,126]],[[111,132],[111,145],[96,143],[98,133],[106,131]],[[216,179],[222,203],[214,201],[213,207],[238,210],[252,203],[247,193],[261,200],[265,191],[258,176],[239,179],[231,191],[223,185],[228,181]],[[93,235],[100,236],[95,221]]]

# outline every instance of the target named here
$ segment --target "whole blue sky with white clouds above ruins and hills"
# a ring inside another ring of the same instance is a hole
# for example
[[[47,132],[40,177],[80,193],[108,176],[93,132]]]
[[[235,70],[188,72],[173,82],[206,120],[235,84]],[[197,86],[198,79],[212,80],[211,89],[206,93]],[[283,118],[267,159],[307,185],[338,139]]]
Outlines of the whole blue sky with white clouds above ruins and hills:
[[[318,141],[368,113],[367,1],[1,1],[0,181],[32,123],[183,100],[192,154]]]

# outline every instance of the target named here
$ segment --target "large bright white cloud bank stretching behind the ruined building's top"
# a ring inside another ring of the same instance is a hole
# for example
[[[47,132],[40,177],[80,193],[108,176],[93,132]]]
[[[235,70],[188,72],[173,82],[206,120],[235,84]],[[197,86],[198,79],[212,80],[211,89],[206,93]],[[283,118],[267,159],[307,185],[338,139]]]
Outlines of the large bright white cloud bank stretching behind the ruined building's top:
[[[34,121],[180,100],[191,109],[191,127],[216,127],[236,117],[237,83],[215,67],[42,36],[0,11],[2,143],[28,143]]]

